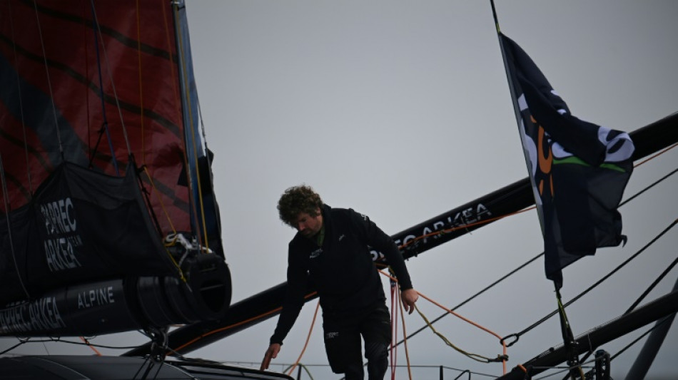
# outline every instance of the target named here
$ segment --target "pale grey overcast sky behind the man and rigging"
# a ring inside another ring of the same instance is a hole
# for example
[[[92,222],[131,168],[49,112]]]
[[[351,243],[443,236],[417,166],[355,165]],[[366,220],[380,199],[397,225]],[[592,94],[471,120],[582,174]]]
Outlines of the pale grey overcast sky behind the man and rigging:
[[[311,185],[329,205],[353,207],[393,235],[527,176],[490,1],[187,3],[201,111],[215,152],[233,302],[285,281],[294,231],[275,210],[285,188]],[[512,0],[497,1],[497,14],[502,31],[527,51],[577,117],[630,132],[678,111],[677,2]],[[625,197],[676,163],[674,149],[640,166]],[[622,207],[628,244],[599,250],[565,269],[563,301],[675,220],[677,189],[678,180],[671,178]],[[674,260],[677,242],[677,232],[669,232],[568,307],[575,335],[622,314]],[[537,213],[530,211],[424,252],[408,268],[419,292],[453,307],[542,252],[542,244]],[[649,299],[669,292],[676,277],[675,271],[669,274]],[[304,307],[272,369],[280,371],[275,364],[291,363],[300,354],[315,304]],[[418,306],[430,319],[442,314],[425,299]],[[539,260],[458,312],[506,336],[555,307]],[[260,361],[276,321],[191,356]],[[423,326],[416,313],[405,323],[410,332]],[[501,354],[495,337],[455,317],[435,328],[466,351]],[[316,322],[302,359],[306,364],[327,363],[320,331]],[[678,375],[677,331],[669,333],[652,375]],[[616,354],[637,336],[601,348]],[[15,342],[2,339],[0,348]],[[93,342],[130,345],[143,337],[118,334]],[[552,318],[508,349],[507,367],[561,342]],[[642,342],[612,361],[615,379],[623,379]],[[16,352],[54,354],[62,347],[33,345]],[[413,337],[408,349],[413,365],[502,374],[500,364],[467,359],[432,332]],[[406,364],[402,346],[398,364]],[[312,371],[315,379],[333,378],[327,369]],[[450,370],[446,376],[458,374]],[[400,372],[398,379],[405,376]],[[415,379],[435,376],[437,369],[415,372]]]

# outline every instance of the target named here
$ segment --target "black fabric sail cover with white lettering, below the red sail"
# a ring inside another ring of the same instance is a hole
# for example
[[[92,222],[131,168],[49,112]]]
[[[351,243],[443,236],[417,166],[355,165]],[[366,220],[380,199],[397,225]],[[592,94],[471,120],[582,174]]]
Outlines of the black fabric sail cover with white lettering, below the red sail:
[[[61,164],[2,219],[0,305],[85,280],[176,272],[131,170],[111,177]]]

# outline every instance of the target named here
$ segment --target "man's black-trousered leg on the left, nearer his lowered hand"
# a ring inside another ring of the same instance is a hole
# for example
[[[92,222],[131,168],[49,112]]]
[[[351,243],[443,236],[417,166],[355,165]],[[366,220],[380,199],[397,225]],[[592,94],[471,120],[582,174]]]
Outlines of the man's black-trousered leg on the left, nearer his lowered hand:
[[[346,380],[363,380],[363,356],[360,347],[360,331],[346,322],[323,321],[325,351],[330,367],[335,374],[345,374]]]

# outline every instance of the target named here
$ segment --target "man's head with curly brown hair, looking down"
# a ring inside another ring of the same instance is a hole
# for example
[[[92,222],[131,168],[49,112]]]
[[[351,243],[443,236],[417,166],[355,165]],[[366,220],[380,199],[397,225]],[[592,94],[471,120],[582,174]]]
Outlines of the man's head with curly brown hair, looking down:
[[[315,235],[323,227],[321,207],[320,195],[305,185],[288,188],[278,200],[280,220],[308,236]]]

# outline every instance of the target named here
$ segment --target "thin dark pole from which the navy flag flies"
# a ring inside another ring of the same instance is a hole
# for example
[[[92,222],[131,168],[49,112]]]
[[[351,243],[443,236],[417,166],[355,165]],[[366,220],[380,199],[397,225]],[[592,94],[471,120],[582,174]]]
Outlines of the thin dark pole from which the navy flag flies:
[[[499,27],[499,20],[497,19],[497,9],[495,8],[495,0],[490,0],[490,4],[492,6],[492,17],[495,20],[495,28],[497,29],[497,39],[499,41],[499,47],[502,52],[502,61],[504,62],[504,69],[506,71],[506,78],[507,82],[509,85],[510,93],[511,93],[511,101],[513,103],[513,111],[515,113],[515,120],[518,125],[518,130],[520,132],[520,138],[522,139],[522,131],[520,131],[520,125],[522,122],[522,116],[520,115],[520,106],[518,106],[518,100],[515,98],[515,87],[514,83],[511,78],[511,72],[509,68],[509,63],[506,58],[506,51],[504,49],[504,43],[502,41],[502,36],[501,36],[501,30]],[[527,156],[527,153],[525,153],[525,160],[526,162],[530,163],[530,158]],[[530,181],[532,182],[532,189],[536,189],[535,186],[535,178],[530,175],[529,176]],[[539,199],[539,195],[535,193],[535,202]],[[539,202],[537,202],[538,205]],[[545,234],[545,226],[542,223],[543,220],[543,215],[542,215],[542,210],[541,207],[537,207],[537,212],[539,213],[539,219],[540,219],[540,225],[542,227],[542,235]],[[572,333],[572,328],[570,327],[570,322],[567,320],[567,314],[565,314],[565,307],[562,306],[562,300],[560,297],[560,287],[557,282],[553,282],[555,286],[555,292],[556,292],[556,298],[557,298],[557,303],[558,303],[558,315],[560,317],[560,329],[562,332],[562,340],[563,344],[565,346],[565,349],[569,353],[570,359],[567,360],[567,365],[571,367],[570,369],[570,376],[572,376],[573,380],[577,380],[577,377],[580,376],[582,380],[584,380],[584,371],[582,370],[582,367],[580,365],[580,360],[579,356],[577,355],[577,350],[576,350],[576,342],[575,342],[575,336]],[[575,368],[572,368],[575,367]]]

